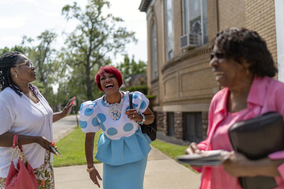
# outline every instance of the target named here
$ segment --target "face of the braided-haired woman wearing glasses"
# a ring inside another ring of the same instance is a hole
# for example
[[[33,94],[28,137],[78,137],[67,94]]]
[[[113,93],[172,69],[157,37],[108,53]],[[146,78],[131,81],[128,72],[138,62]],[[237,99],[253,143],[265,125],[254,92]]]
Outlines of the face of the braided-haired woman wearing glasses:
[[[29,67],[30,60],[25,55],[20,55],[15,67],[11,68],[12,79],[15,83],[29,83],[36,79],[35,67]],[[23,64],[24,63],[24,64]],[[21,64],[21,65],[19,65]],[[19,66],[17,66],[19,65]],[[17,77],[15,77],[17,75]]]

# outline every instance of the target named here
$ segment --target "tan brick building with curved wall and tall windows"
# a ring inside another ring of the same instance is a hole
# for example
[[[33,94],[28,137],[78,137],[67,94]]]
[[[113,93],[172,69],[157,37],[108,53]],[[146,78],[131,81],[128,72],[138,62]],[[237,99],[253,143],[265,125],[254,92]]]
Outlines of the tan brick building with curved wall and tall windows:
[[[277,62],[275,1],[141,1],[148,32],[147,84],[149,94],[157,95],[153,110],[158,129],[188,141],[206,137],[209,104],[219,90],[209,68],[218,31],[229,27],[257,31]]]

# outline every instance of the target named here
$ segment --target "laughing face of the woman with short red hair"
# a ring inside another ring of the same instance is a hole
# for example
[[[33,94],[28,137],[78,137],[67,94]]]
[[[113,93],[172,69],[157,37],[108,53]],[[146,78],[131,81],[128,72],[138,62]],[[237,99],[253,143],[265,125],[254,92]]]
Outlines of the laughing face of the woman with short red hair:
[[[100,78],[101,88],[106,94],[117,93],[119,86],[114,74],[104,72]]]

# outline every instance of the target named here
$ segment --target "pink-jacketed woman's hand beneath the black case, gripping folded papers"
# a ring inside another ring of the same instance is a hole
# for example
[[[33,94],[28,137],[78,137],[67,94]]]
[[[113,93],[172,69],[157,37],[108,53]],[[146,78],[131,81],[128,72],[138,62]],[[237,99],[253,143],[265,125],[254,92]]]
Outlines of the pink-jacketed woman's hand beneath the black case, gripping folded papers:
[[[253,162],[236,151],[230,152],[230,159],[223,163],[224,170],[233,177],[256,176]]]

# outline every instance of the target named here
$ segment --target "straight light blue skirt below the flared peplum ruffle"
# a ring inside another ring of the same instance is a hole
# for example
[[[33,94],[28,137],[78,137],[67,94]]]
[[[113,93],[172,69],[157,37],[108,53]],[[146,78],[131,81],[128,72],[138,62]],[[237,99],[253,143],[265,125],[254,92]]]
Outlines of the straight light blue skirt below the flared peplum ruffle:
[[[104,189],[143,189],[148,155],[143,159],[122,165],[103,163]]]

